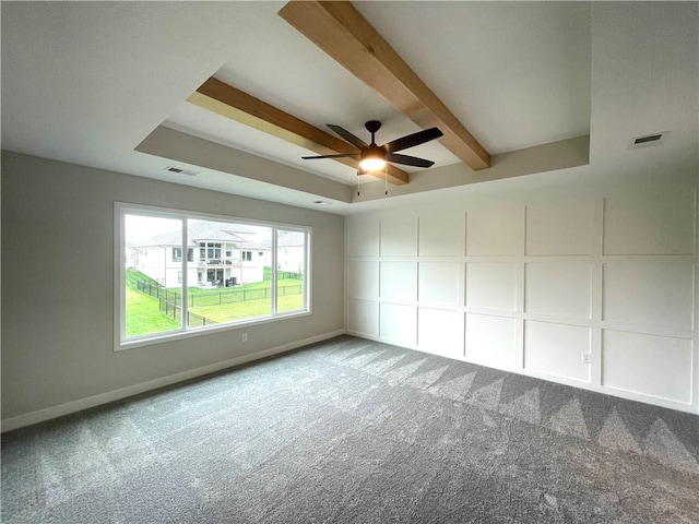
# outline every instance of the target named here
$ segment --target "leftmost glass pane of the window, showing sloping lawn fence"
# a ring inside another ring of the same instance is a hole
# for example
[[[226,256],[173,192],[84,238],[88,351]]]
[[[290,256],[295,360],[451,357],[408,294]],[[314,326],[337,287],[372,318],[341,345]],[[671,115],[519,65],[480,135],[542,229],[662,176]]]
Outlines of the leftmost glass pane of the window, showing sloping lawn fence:
[[[182,222],[125,215],[126,336],[181,329]]]

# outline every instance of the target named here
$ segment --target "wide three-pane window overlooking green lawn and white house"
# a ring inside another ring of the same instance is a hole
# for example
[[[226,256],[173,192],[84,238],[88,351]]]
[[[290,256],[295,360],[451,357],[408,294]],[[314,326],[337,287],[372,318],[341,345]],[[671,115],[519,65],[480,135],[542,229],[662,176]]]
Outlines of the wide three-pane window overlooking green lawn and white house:
[[[309,312],[308,228],[129,204],[116,216],[118,347]]]

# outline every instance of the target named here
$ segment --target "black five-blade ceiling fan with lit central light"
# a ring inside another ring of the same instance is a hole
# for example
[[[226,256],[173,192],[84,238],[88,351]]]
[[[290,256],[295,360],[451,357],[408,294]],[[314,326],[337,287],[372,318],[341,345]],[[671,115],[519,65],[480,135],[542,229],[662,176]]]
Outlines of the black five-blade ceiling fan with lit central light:
[[[367,131],[371,133],[371,143],[366,144],[363,140],[358,139],[350,131],[340,126],[329,123],[328,127],[332,129],[340,136],[345,139],[352,145],[359,148],[358,153],[340,153],[336,155],[321,155],[321,156],[303,156],[305,160],[311,160],[317,158],[344,158],[355,157],[359,158],[359,167],[365,171],[377,171],[386,167],[386,163],[403,164],[405,166],[414,167],[431,167],[435,163],[426,160],[425,158],[418,158],[416,156],[399,155],[395,152],[414,147],[430,140],[438,139],[443,133],[438,128],[425,129],[413,134],[407,134],[400,139],[392,140],[383,145],[377,145],[375,140],[376,132],[381,128],[381,122],[378,120],[369,120],[364,124]]]

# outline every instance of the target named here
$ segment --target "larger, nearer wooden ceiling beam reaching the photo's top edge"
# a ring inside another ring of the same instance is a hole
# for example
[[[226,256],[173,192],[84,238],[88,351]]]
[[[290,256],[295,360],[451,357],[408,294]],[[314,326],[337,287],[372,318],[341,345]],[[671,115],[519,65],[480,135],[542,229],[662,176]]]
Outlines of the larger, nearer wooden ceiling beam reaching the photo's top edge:
[[[490,155],[348,1],[289,1],[286,22],[422,129],[438,127],[440,143],[472,169]]]

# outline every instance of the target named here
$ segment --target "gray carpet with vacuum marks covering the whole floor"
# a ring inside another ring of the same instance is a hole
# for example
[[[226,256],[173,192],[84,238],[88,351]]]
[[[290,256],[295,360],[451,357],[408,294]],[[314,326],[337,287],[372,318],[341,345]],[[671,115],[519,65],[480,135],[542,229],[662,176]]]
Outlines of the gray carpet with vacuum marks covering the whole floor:
[[[699,523],[699,417],[342,336],[5,433],[5,523]]]

